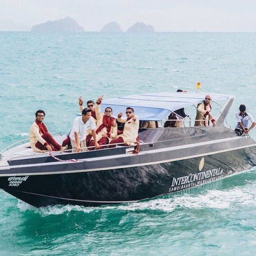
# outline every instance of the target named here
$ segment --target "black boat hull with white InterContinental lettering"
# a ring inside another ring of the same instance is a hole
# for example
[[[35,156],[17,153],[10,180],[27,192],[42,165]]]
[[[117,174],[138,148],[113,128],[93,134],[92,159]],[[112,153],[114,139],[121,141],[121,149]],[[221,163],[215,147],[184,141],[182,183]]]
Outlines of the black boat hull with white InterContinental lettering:
[[[143,165],[138,165],[140,156],[134,156],[119,159],[116,166],[101,169],[80,168],[43,174],[42,167],[42,173],[38,167],[34,167],[33,172],[31,167],[31,175],[1,176],[0,187],[36,207],[53,204],[99,206],[174,193],[255,165],[255,146],[180,160],[159,161],[159,154],[154,155],[151,163]],[[125,165],[130,161],[131,167],[118,168],[122,161]],[[108,165],[106,161],[105,165]]]

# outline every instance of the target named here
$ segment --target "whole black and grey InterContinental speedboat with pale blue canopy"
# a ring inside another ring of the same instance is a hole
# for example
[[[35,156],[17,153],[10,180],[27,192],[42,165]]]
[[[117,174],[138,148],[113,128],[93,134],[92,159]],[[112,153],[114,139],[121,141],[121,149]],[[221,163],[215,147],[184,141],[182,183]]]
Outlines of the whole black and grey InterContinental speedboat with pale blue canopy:
[[[216,125],[194,125],[205,95],[163,92],[104,100],[101,111],[110,106],[117,116],[130,106],[140,121],[156,127],[139,129],[139,145],[79,153],[36,153],[28,140],[19,141],[0,154],[0,188],[36,207],[99,206],[155,198],[255,166],[256,142],[249,135],[237,136],[227,123],[234,96],[211,94]],[[164,127],[180,109],[186,113],[177,116],[182,127]],[[61,144],[66,136],[54,138]]]

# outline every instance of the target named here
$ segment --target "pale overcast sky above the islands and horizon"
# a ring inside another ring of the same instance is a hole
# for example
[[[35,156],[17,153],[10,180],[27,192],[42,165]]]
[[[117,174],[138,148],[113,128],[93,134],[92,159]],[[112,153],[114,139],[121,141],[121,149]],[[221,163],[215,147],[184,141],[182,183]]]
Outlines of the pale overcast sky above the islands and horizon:
[[[256,0],[0,0],[2,31],[67,16],[86,31],[115,21],[123,31],[143,22],[155,31],[256,32]]]

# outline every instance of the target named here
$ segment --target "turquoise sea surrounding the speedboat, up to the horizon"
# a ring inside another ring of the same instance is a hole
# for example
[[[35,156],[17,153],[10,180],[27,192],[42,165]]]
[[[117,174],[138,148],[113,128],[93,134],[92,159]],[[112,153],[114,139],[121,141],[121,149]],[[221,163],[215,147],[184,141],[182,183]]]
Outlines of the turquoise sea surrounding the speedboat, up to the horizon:
[[[0,32],[0,151],[37,109],[68,133],[78,97],[196,90],[236,96],[256,118],[256,33]],[[256,128],[251,136],[256,138]],[[152,200],[36,209],[0,190],[1,255],[252,255],[256,168]]]

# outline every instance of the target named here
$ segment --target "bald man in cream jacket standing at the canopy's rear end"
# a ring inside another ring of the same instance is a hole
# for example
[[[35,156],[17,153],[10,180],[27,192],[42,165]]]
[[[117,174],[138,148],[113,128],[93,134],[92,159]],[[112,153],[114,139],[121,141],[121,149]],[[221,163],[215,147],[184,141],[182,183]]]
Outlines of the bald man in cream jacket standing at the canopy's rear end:
[[[211,96],[206,95],[204,102],[199,103],[197,105],[197,116],[195,121],[195,126],[208,126],[210,121],[212,122],[212,126],[216,125],[215,119],[212,117],[211,111]]]

